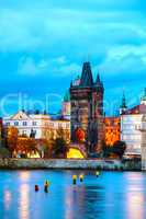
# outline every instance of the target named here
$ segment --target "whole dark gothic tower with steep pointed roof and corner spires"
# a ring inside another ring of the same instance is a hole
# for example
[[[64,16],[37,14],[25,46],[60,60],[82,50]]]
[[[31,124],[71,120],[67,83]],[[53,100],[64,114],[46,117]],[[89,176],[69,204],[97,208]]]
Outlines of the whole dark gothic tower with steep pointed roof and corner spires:
[[[77,141],[77,129],[82,130],[88,152],[94,152],[103,140],[103,93],[100,76],[94,82],[90,62],[85,62],[81,78],[70,84],[71,141]]]

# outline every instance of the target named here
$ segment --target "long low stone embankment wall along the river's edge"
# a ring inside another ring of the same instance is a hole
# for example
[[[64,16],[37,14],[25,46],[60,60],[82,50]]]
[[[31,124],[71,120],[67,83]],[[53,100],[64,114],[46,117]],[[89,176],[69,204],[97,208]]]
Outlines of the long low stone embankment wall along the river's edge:
[[[0,169],[141,171],[141,162],[120,160],[0,159]]]

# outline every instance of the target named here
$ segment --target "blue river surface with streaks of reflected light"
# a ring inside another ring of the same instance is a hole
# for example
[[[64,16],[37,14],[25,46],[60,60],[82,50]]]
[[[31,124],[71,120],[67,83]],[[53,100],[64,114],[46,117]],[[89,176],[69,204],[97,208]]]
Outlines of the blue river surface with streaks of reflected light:
[[[146,174],[85,172],[83,183],[71,185],[80,171],[1,171],[1,219],[145,219]],[[50,181],[48,194],[44,181]],[[34,192],[38,184],[40,192]]]

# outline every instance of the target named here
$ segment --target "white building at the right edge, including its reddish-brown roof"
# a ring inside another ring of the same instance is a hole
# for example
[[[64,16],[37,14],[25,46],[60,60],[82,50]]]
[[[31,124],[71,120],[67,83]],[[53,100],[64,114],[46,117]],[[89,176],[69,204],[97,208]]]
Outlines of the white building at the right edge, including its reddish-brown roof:
[[[142,127],[143,116],[146,114],[146,90],[141,104],[126,110],[121,115],[121,140],[126,142],[127,155],[142,154]]]

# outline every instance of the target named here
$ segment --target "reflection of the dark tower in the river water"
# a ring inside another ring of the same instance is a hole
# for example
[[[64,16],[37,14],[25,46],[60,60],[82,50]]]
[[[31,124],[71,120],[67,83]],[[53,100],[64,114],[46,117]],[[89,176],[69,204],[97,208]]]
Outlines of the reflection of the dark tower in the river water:
[[[102,203],[102,187],[100,186],[74,186],[66,193],[66,219],[98,218],[102,211],[99,206]]]

